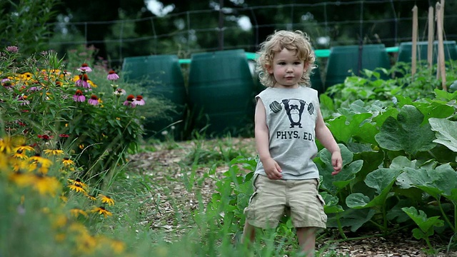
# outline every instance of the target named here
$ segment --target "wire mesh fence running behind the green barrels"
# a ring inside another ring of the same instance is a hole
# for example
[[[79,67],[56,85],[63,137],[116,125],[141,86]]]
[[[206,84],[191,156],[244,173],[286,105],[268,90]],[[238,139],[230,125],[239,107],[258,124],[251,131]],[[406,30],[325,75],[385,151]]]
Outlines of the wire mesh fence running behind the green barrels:
[[[49,44],[56,49],[94,45],[106,49],[111,61],[117,62],[128,56],[148,54],[177,54],[180,58],[189,58],[193,53],[204,51],[244,49],[253,52],[276,29],[306,31],[315,49],[353,44],[398,46],[411,41],[411,9],[415,4],[421,4],[419,40],[427,40],[428,6],[435,3],[359,0],[230,8],[216,5],[206,10],[139,19],[84,22],[62,19],[54,24],[58,36]],[[451,3],[451,7],[455,4]],[[447,12],[445,9],[445,16],[445,40],[456,40],[457,14],[450,8]],[[107,29],[108,33],[100,33]]]

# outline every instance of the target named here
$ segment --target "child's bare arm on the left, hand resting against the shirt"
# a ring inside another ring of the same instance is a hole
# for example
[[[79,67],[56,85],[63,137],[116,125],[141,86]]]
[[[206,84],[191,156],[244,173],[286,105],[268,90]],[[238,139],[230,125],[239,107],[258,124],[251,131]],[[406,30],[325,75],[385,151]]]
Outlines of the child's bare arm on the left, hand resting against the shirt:
[[[256,148],[258,157],[263,164],[266,176],[270,179],[281,179],[281,167],[271,158],[268,126],[266,126],[266,111],[261,99],[257,100],[255,122]]]

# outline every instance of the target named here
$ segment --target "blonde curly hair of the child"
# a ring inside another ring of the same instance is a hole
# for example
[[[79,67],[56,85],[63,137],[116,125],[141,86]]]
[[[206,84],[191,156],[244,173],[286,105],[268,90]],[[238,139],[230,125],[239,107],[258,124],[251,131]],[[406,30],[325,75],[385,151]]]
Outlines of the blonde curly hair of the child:
[[[261,84],[270,87],[276,84],[273,74],[268,73],[267,67],[273,66],[273,57],[283,49],[296,51],[298,59],[304,61],[305,67],[307,66],[308,69],[303,72],[298,84],[310,87],[311,74],[313,74],[313,69],[317,68],[316,64],[314,64],[316,56],[314,55],[308,35],[299,30],[275,31],[274,34],[268,36],[266,41],[260,45],[260,50],[257,52],[256,71],[258,72],[258,78]]]

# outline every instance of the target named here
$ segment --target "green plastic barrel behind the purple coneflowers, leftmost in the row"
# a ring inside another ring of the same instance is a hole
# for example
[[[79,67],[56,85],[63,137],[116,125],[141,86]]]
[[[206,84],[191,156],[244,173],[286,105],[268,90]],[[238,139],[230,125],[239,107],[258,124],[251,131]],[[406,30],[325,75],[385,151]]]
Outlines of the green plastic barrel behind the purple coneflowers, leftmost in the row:
[[[154,104],[146,99],[146,105],[141,106],[142,111],[146,113],[144,115],[146,116],[146,121],[144,121],[146,137],[164,138],[167,135],[175,139],[182,139],[186,87],[178,56],[127,57],[124,58],[122,74],[126,81],[143,86],[145,97],[159,98],[164,100],[161,103],[169,105],[167,106],[169,111],[157,114],[157,111],[154,112]],[[151,116],[147,114],[151,114]]]

